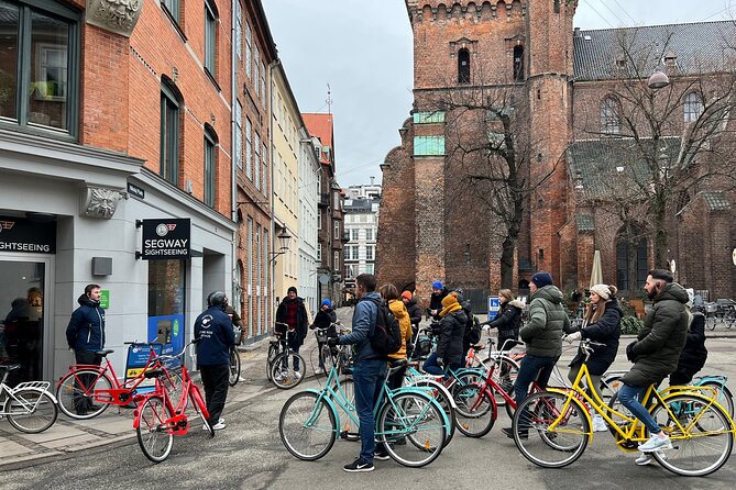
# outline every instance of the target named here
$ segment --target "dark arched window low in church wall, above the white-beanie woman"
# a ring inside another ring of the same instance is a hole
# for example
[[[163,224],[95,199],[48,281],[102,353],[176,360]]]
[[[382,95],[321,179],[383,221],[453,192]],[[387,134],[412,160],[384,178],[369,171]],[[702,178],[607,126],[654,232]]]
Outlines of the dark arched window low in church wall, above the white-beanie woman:
[[[639,227],[622,227],[616,235],[616,287],[619,290],[633,292],[644,287],[649,270],[647,250],[647,238]]]

